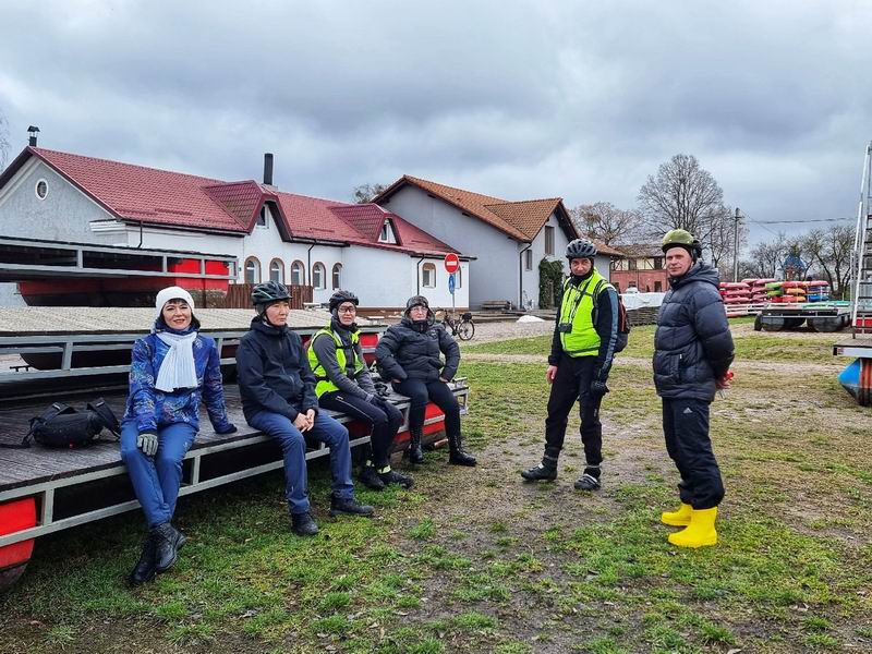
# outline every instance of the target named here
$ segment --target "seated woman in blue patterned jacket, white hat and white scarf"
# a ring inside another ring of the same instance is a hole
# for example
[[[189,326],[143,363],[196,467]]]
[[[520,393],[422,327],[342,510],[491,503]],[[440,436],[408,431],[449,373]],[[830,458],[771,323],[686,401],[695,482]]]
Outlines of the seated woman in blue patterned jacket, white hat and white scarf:
[[[182,459],[199,429],[201,396],[219,434],[237,431],[227,419],[220,355],[197,334],[194,301],[180,287],[155,303],[152,334],[133,346],[130,396],[121,425],[121,459],[148,523],[132,584],[171,568],[185,537],[171,523],[182,482]]]

